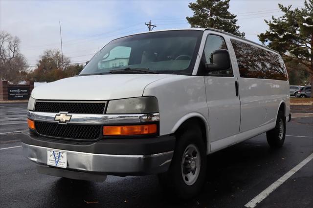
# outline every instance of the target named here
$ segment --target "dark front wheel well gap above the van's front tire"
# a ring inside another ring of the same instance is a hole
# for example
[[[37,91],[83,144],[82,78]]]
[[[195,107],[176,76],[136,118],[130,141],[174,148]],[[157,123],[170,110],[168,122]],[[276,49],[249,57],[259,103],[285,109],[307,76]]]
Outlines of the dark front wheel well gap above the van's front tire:
[[[205,128],[205,123],[202,121],[201,118],[199,117],[192,117],[184,121],[179,128],[175,131],[175,135],[179,137],[182,133],[184,133],[188,128],[192,127],[193,125],[197,125],[201,129],[201,134],[202,134],[202,139],[205,143],[205,149],[206,149],[206,128]]]

